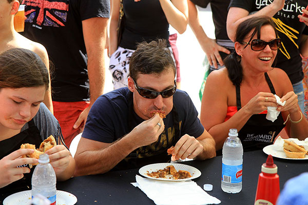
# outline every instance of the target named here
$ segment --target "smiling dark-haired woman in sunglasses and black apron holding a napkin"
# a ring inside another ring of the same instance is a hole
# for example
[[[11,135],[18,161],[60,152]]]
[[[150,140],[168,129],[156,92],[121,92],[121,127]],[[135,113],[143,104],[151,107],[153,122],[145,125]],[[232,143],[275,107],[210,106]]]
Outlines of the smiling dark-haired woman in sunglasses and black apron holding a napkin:
[[[208,76],[201,122],[214,137],[217,154],[230,128],[239,130],[244,151],[272,144],[284,126],[290,137],[307,136],[308,122],[291,81],[283,70],[274,68],[280,46],[271,18],[249,18],[237,29],[235,52],[225,59],[226,68]],[[284,106],[278,106],[274,94],[286,101]],[[266,119],[267,107],[281,111],[274,122]]]

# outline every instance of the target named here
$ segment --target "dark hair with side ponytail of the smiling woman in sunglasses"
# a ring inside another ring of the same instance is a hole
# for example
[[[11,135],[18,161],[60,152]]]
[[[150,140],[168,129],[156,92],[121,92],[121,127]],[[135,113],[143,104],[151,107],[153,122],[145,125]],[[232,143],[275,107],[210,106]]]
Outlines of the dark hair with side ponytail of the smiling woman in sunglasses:
[[[250,37],[248,42],[250,43],[255,34],[257,38],[260,39],[261,27],[269,25],[272,26],[276,37],[278,37],[278,32],[275,28],[275,23],[272,18],[268,16],[258,16],[252,17],[244,20],[236,30],[235,42],[242,44],[245,38]],[[253,33],[251,36],[247,36],[252,30]],[[224,64],[228,70],[228,75],[233,85],[240,86],[243,79],[243,69],[241,66],[241,56],[239,56],[234,50],[230,55],[224,59]]]

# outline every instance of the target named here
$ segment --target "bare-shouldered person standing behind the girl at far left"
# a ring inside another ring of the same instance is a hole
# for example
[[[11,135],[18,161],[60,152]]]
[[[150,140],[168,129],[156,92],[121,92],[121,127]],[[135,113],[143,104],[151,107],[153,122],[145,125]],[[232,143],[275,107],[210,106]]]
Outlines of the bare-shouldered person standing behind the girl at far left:
[[[48,54],[44,46],[25,38],[14,29],[14,16],[22,0],[1,0],[0,2],[0,53],[12,48],[24,48],[41,57],[49,70]],[[53,113],[50,85],[45,93],[43,103]]]

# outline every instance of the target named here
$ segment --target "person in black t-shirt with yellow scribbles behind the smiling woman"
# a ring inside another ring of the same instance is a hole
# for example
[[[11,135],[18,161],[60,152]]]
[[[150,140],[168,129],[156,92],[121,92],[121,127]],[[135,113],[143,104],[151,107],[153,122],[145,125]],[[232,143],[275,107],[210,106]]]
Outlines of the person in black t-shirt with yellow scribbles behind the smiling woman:
[[[289,1],[290,2],[290,1]],[[294,92],[298,96],[298,105],[304,111],[304,89],[302,79],[302,56],[308,55],[308,14],[305,10],[308,2],[296,0],[286,4],[285,0],[255,1],[232,0],[227,16],[227,32],[230,39],[235,39],[238,25],[254,16],[266,15],[272,17],[278,35],[282,40],[282,46],[278,50],[277,64],[275,67],[286,72],[293,85]]]

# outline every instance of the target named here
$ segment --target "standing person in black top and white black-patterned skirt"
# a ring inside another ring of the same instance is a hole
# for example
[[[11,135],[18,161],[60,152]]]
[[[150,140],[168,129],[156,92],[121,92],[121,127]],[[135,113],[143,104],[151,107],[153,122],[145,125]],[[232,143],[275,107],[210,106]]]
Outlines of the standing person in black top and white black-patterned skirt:
[[[123,1],[124,29],[118,36],[120,6]],[[112,0],[109,35],[109,70],[113,88],[127,87],[130,56],[137,44],[149,43],[158,38],[168,41],[169,24],[180,34],[187,27],[188,8],[186,0]],[[118,37],[120,37],[118,45]],[[167,44],[170,51],[170,44]],[[173,55],[173,54],[172,54]]]

